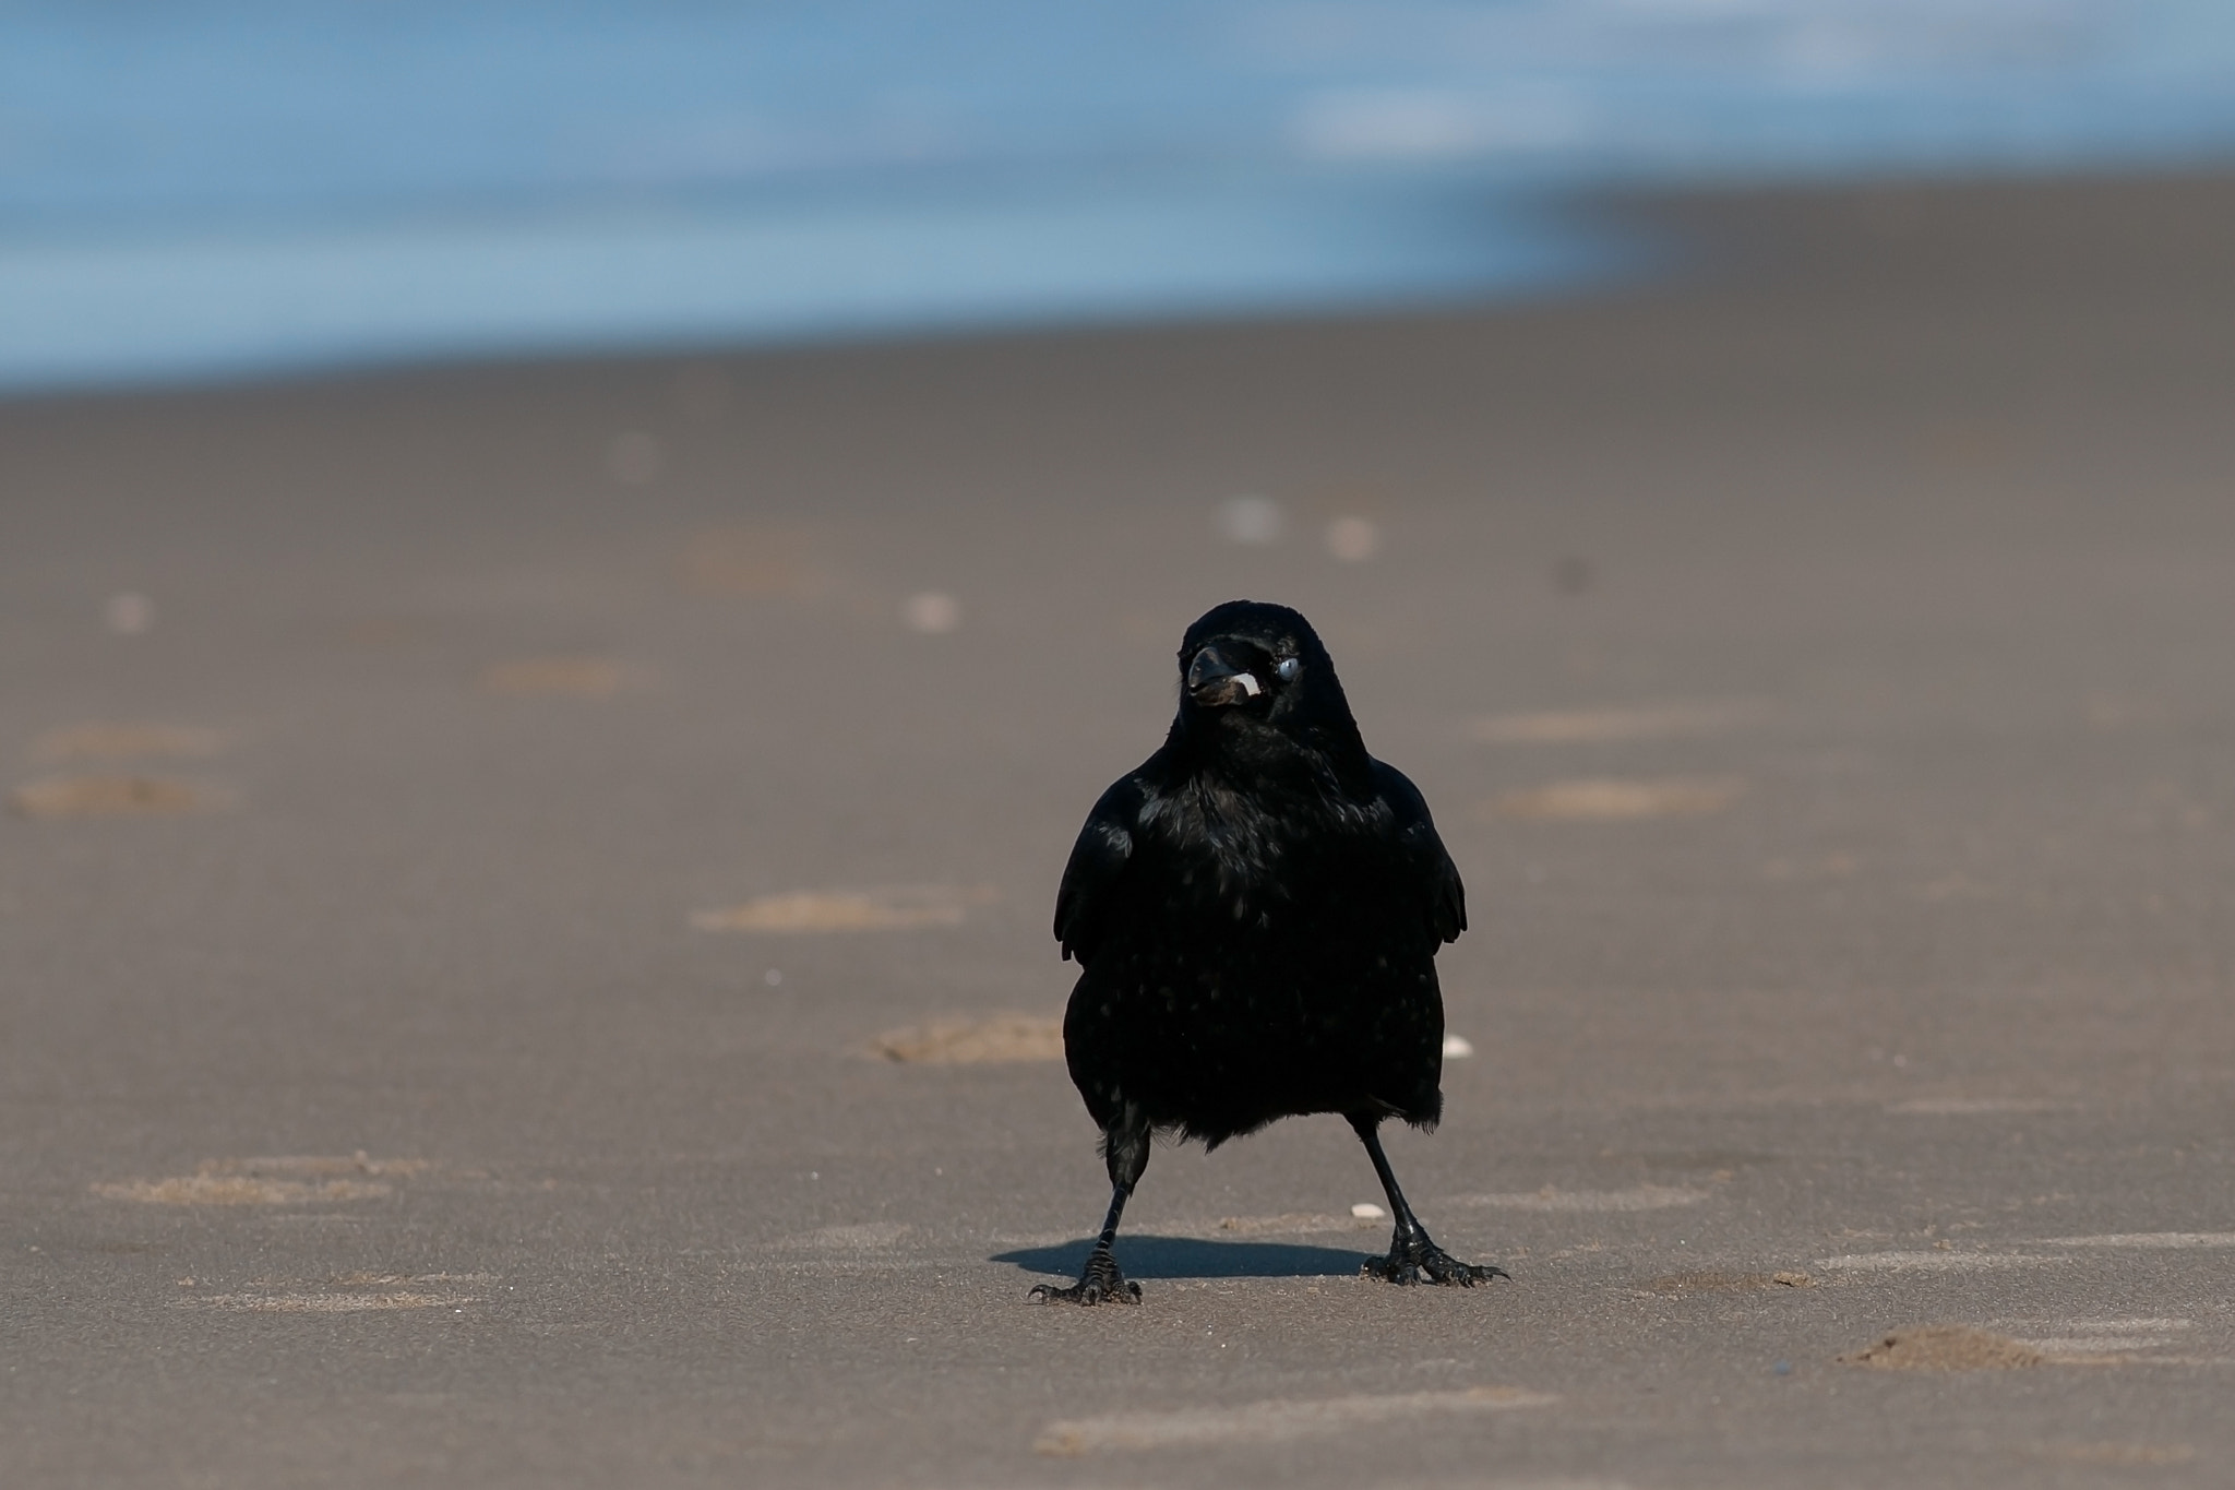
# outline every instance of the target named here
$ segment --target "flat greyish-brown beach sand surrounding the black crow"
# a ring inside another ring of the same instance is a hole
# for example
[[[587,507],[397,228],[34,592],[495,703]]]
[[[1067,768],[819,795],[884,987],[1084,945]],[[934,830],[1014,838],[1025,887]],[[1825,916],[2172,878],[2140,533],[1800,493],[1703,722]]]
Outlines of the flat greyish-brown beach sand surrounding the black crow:
[[[0,1479],[2224,1483],[2235,183],[1625,210],[1699,273],[0,407]],[[1513,1284],[1314,1119],[1026,1302],[1231,594],[1466,876],[1392,1159]]]

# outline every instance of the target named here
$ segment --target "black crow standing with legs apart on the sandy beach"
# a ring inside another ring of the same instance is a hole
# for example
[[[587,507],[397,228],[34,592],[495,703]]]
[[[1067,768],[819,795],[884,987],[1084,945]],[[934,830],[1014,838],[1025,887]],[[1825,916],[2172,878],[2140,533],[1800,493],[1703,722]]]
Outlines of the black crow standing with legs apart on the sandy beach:
[[[1102,1128],[1111,1209],[1080,1280],[1039,1302],[1140,1302],[1111,1255],[1149,1137],[1218,1148],[1278,1117],[1341,1112],[1397,1233],[1366,1271],[1473,1287],[1413,1215],[1379,1128],[1444,1112],[1435,954],[1466,929],[1428,804],[1366,753],[1312,623],[1227,601],[1180,643],[1164,746],[1102,793],[1055,894],[1077,958],[1064,1059]]]

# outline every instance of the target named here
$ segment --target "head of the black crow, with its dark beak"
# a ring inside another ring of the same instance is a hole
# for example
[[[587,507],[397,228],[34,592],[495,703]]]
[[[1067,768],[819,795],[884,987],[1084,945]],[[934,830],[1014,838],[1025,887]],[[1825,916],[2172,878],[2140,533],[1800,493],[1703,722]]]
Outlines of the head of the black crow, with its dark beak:
[[[1350,701],[1312,623],[1287,605],[1227,601],[1180,641],[1180,722],[1272,728],[1312,744],[1350,739]]]

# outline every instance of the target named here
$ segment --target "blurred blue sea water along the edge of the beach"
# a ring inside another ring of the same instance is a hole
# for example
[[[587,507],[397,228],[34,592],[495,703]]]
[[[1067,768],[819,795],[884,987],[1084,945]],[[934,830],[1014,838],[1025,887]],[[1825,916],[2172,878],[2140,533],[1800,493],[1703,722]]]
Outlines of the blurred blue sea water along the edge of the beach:
[[[0,386],[1448,304],[1632,270],[1578,188],[2231,154],[2226,0],[0,0]]]

